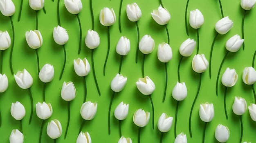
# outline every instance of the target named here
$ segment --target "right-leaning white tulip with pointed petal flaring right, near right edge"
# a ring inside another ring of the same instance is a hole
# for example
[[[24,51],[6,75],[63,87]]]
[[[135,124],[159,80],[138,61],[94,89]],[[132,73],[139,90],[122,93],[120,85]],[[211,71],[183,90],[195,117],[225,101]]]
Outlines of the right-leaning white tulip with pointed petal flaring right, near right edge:
[[[234,35],[229,40],[227,40],[225,47],[230,52],[237,52],[242,46],[245,40],[241,39],[239,35]]]

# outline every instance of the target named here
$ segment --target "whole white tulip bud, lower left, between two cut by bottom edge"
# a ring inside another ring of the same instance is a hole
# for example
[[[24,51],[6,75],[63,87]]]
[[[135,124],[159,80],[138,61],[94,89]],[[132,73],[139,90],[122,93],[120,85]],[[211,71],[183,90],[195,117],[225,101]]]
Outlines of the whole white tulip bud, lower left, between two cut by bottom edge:
[[[47,125],[47,135],[52,139],[57,139],[62,134],[62,127],[60,121],[54,119]]]

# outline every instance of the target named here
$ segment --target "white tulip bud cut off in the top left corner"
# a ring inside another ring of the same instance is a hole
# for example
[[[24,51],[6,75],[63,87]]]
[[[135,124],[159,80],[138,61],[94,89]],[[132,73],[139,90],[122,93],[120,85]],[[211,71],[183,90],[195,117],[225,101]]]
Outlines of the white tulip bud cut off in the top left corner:
[[[12,16],[15,13],[15,5],[11,0],[0,0],[0,11],[4,16]]]

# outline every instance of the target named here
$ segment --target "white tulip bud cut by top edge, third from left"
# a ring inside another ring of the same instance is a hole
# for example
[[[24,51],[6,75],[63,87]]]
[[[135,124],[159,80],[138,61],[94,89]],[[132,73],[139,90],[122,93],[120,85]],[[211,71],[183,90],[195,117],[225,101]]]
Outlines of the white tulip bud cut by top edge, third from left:
[[[64,0],[65,7],[71,14],[78,14],[83,8],[81,0]]]

